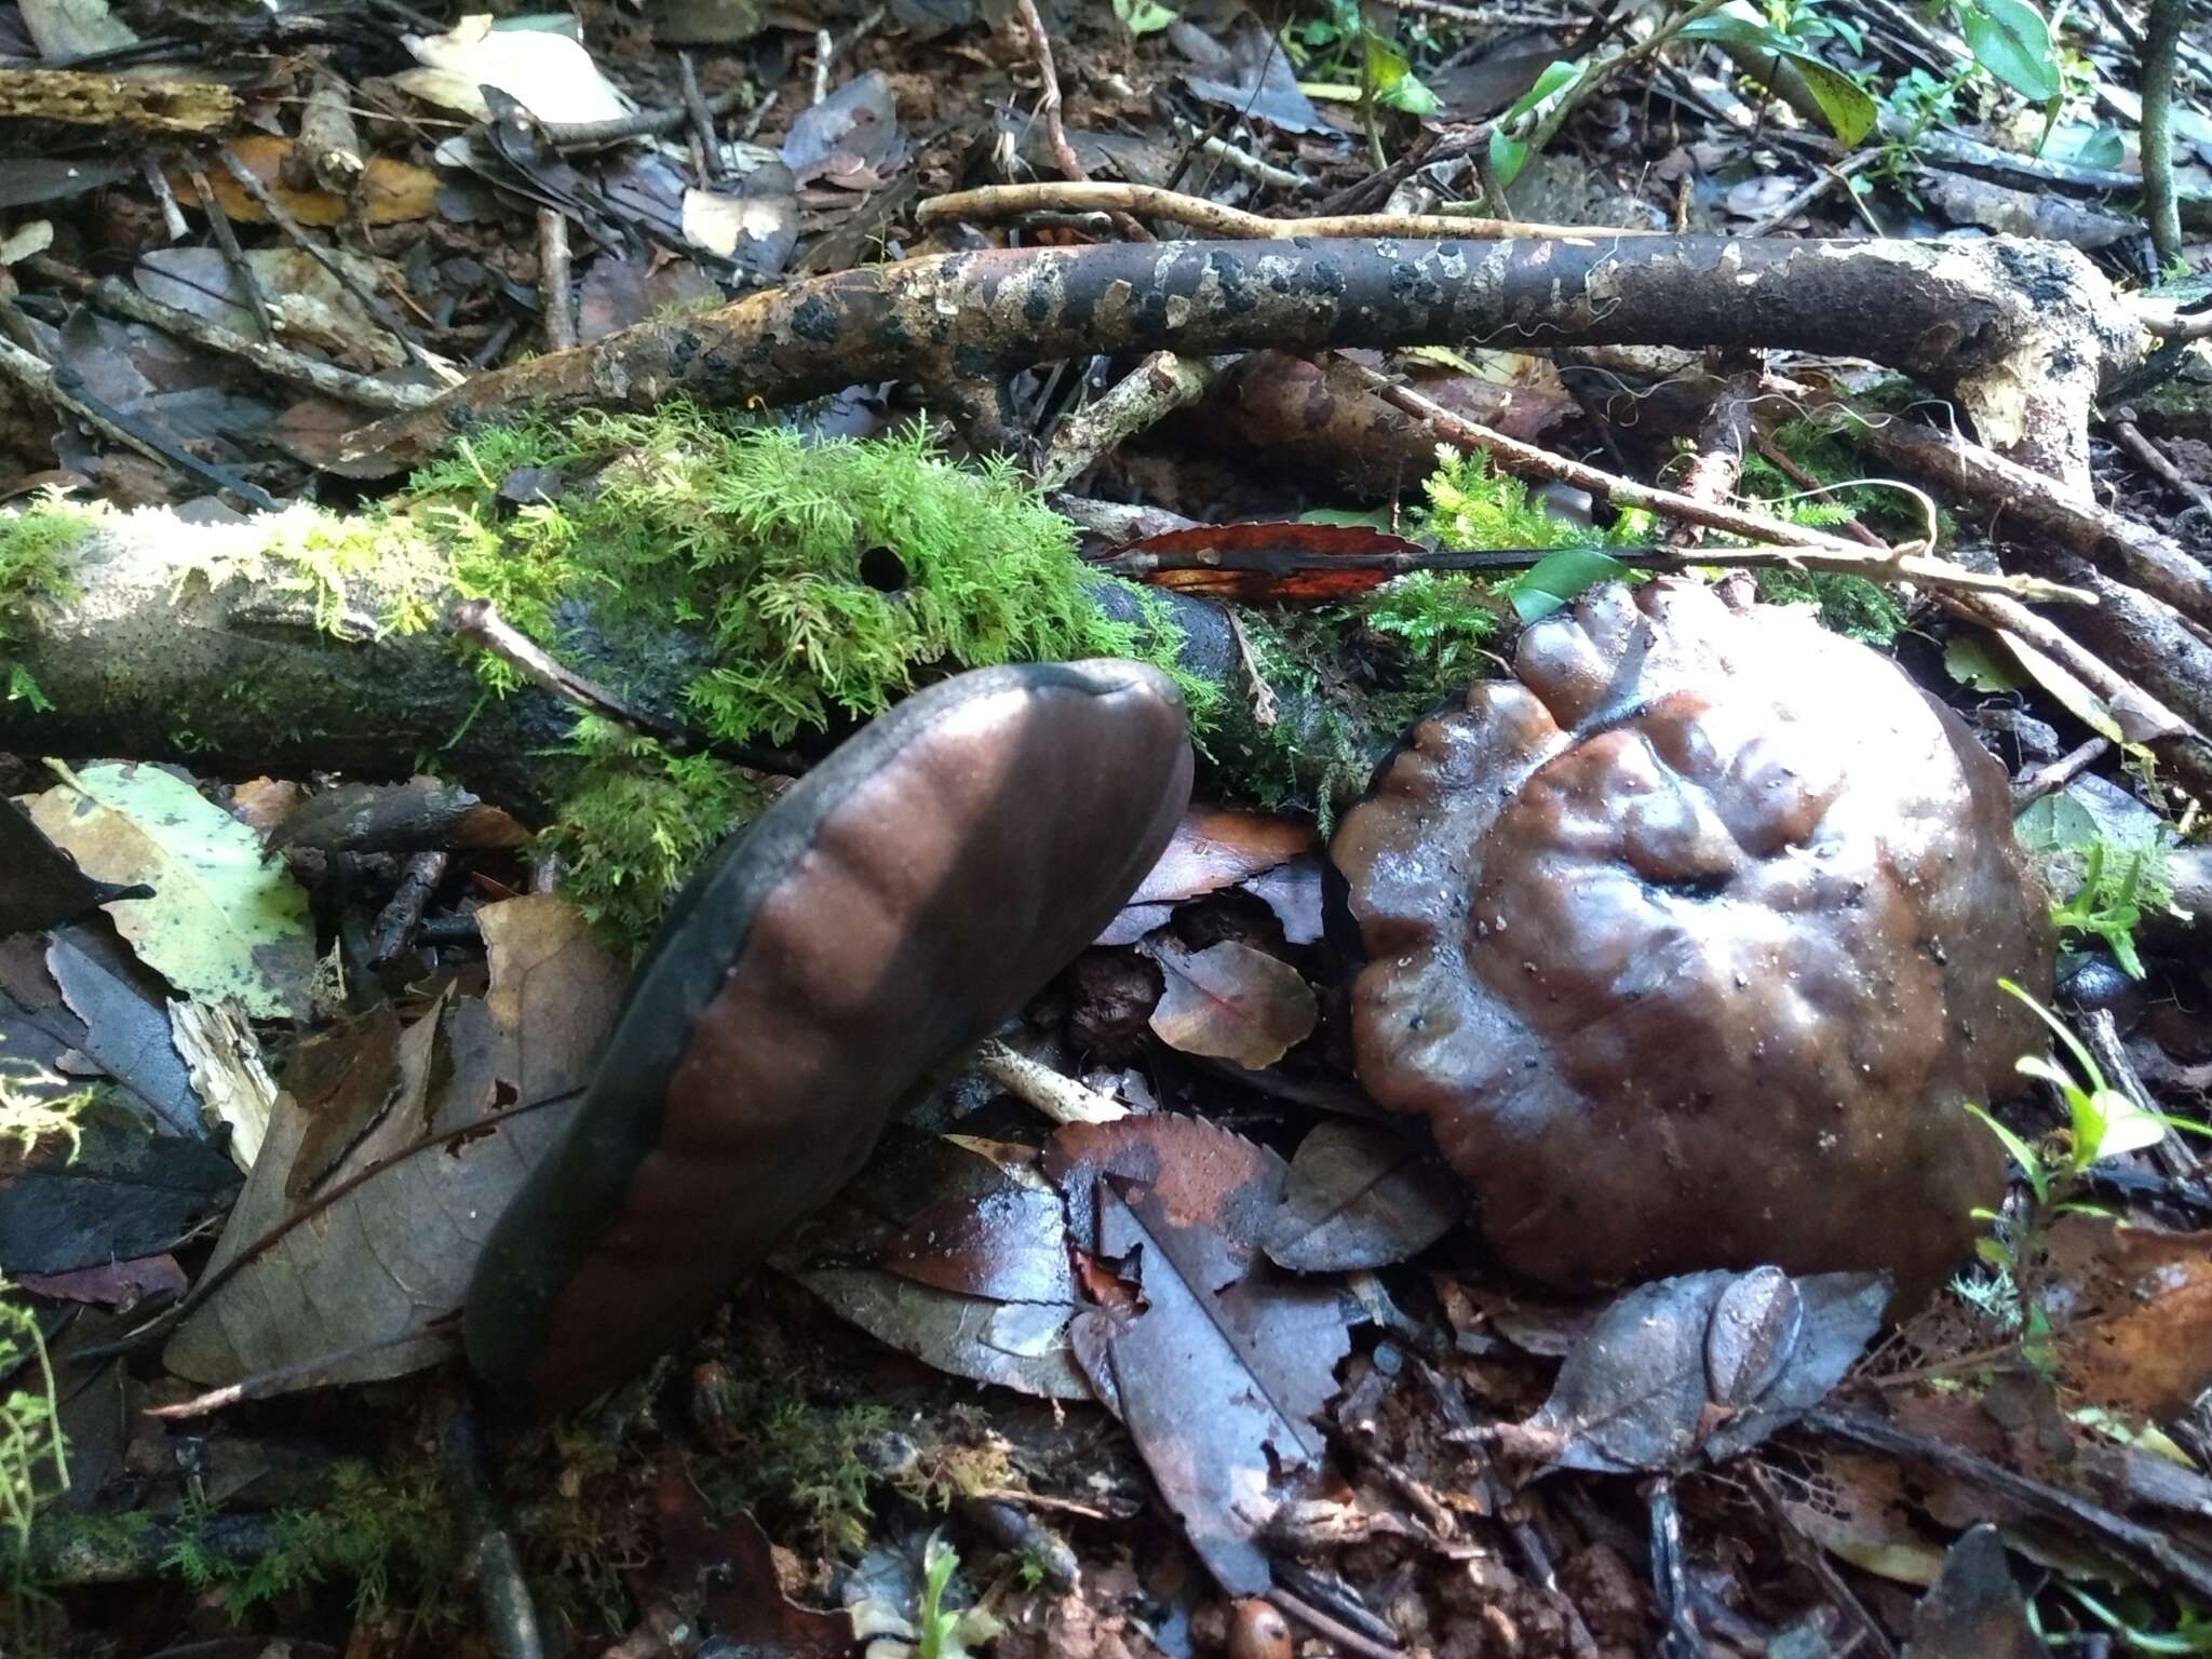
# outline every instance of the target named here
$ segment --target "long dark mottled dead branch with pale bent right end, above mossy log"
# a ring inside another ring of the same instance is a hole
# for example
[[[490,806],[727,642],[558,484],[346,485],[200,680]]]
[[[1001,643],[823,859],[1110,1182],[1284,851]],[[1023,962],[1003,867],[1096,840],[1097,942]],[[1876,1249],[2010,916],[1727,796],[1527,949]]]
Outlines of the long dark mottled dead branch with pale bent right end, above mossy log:
[[[529,405],[768,405],[911,378],[998,431],[991,376],[1097,352],[1480,343],[1790,347],[1869,356],[1955,396],[2022,465],[2088,493],[2088,409],[2141,330],[2070,248],[1734,241],[1179,241],[938,254],[639,323],[478,376],[354,434],[389,471]]]

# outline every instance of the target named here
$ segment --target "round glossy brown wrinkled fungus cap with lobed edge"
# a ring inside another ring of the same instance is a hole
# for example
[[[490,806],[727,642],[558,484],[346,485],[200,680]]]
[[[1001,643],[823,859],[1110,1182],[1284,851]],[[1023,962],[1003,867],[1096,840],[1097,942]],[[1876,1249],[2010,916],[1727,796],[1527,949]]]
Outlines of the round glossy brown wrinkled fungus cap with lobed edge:
[[[1535,1279],[1933,1290],[2004,1192],[1960,1106],[2042,1048],[1997,980],[2051,991],[1997,763],[1867,646],[1694,582],[1597,588],[1513,672],[1336,834],[1365,1088]]]

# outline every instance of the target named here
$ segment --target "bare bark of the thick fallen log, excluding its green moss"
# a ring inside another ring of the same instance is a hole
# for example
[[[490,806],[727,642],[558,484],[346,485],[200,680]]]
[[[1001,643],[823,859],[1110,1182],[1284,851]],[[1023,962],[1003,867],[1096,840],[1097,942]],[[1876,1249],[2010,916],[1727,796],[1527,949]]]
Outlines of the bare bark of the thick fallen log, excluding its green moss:
[[[232,524],[115,513],[71,551],[75,593],[29,608],[9,664],[51,710],[0,699],[0,752],[184,761],[201,774],[434,770],[535,818],[575,783],[571,697],[524,686],[484,697],[473,653],[447,630],[392,633],[392,595],[369,584],[343,602],[285,580],[272,549],[327,520],[305,509]],[[1119,595],[1108,595],[1110,604]],[[462,595],[445,595],[440,613]],[[1243,697],[1219,606],[1164,595],[1186,633],[1183,666]],[[1124,611],[1124,606],[1113,604]],[[1133,608],[1124,619],[1139,619]],[[637,688],[646,712],[681,721],[695,646],[637,628],[562,633],[564,668]],[[723,750],[717,750],[723,752]],[[807,757],[730,752],[794,770]]]

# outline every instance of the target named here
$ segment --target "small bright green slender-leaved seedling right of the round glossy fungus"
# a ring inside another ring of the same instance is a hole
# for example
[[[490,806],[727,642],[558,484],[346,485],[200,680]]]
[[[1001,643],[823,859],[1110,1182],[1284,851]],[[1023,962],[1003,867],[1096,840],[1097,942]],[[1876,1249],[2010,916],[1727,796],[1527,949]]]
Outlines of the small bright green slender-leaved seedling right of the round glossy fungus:
[[[2039,1265],[2048,1254],[2051,1225],[2062,1214],[2108,1214],[2099,1206],[2075,1197],[2081,1179],[2095,1164],[2108,1157],[2126,1157],[2128,1152],[2157,1146],[2166,1139],[2168,1130],[2212,1135],[2212,1128],[2188,1117],[2172,1117],[2137,1106],[2124,1091],[2106,1082],[2097,1057],[2081,1046],[2081,1040],[2066,1029],[2064,1020],[2011,980],[1997,980],[1997,984],[2006,995],[2026,1002],[2035,1011],[2035,1018],[2051,1026],[2062,1053],[2073,1060],[2079,1075],[2042,1055],[2022,1055],[2017,1060],[2020,1075],[2051,1084],[2066,1108],[2066,1121],[2039,1141],[2024,1139],[1982,1106],[1966,1106],[1997,1137],[2013,1157],[2013,1164],[2020,1166],[2028,1183],[2028,1206],[2015,1214],[1997,1210],[1973,1212],[1975,1219],[1991,1225],[1991,1234],[1975,1245],[1975,1252],[1995,1270],[1997,1281],[1993,1287],[1973,1287],[1969,1283],[1960,1285],[1960,1290],[1986,1312],[2002,1314],[2008,1323],[2015,1323],[2022,1356],[2039,1369],[2051,1369],[2055,1365],[2051,1318],[2044,1312],[2035,1283]]]

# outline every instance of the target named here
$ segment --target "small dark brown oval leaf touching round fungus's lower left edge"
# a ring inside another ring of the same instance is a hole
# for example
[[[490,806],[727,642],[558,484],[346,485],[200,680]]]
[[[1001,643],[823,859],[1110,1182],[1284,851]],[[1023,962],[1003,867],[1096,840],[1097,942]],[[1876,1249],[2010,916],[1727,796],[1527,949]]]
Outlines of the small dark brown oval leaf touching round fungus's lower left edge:
[[[1329,1119],[1290,1159],[1267,1256],[1292,1272],[1387,1267],[1460,1219],[1467,1188],[1429,1148],[1380,1124]]]

